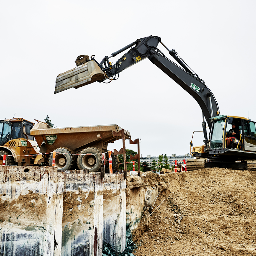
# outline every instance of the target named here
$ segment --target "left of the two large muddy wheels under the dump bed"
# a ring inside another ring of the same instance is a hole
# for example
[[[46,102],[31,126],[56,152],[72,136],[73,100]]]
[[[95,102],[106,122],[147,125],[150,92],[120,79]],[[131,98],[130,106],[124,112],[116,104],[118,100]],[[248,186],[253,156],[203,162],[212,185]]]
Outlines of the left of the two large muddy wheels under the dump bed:
[[[58,168],[58,171],[71,170],[76,160],[75,155],[70,155],[73,154],[73,151],[69,148],[57,148],[54,151],[56,152],[55,166]],[[52,156],[53,153],[51,153],[48,160],[50,166],[52,166]]]

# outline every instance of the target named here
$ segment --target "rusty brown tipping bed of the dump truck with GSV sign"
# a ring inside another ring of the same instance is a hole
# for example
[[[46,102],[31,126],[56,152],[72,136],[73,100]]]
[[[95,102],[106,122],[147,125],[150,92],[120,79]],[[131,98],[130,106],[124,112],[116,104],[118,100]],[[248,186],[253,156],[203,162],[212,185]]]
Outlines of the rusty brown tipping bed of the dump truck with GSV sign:
[[[92,145],[98,145],[104,152],[108,143],[122,138],[113,135],[113,132],[120,130],[122,128],[117,124],[42,129],[42,124],[38,123],[31,129],[30,134],[35,137],[39,147],[43,141],[46,142],[46,152],[42,153],[49,153],[60,147],[79,152]],[[124,133],[126,139],[131,138],[130,132],[124,130]]]

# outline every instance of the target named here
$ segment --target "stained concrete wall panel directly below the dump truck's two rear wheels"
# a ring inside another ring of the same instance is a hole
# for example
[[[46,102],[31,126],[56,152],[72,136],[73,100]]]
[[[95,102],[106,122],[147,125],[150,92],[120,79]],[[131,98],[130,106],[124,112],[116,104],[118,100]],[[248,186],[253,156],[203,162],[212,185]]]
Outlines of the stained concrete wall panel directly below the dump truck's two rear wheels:
[[[58,173],[63,183],[61,256],[102,255],[100,173]]]

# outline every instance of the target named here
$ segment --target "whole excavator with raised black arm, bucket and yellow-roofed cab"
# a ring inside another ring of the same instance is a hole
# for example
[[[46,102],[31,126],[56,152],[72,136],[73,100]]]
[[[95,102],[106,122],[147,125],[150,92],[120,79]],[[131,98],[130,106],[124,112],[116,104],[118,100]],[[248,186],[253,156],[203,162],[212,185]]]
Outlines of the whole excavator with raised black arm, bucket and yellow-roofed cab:
[[[159,43],[178,64],[157,48]],[[126,50],[128,51],[123,54]],[[121,53],[115,63],[109,61]],[[75,61],[77,67],[57,76],[54,93],[77,89],[96,81],[115,80],[124,69],[146,58],[187,91],[202,109],[204,145],[193,147],[191,141],[191,154],[196,158],[207,159],[204,162],[205,168],[247,170],[246,161],[256,160],[256,123],[240,116],[220,115],[217,100],[204,80],[188,67],[175,50],[169,50],[158,36],[137,39],[110,56],[105,56],[101,62],[95,59],[95,55],[91,56],[91,60],[88,55],[78,56]],[[206,123],[210,129],[209,136]],[[236,137],[230,134],[233,124],[239,128]],[[231,143],[228,145],[229,137]]]

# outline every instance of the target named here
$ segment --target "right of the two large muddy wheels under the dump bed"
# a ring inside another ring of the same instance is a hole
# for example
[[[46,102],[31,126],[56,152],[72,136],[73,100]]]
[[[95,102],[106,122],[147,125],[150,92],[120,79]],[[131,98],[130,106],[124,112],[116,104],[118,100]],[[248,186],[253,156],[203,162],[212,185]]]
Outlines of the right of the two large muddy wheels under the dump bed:
[[[88,170],[89,172],[100,172],[102,164],[102,152],[99,148],[84,148],[81,155],[77,157],[77,166],[80,170]]]

